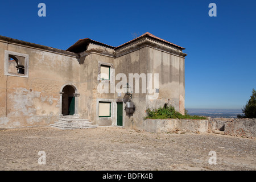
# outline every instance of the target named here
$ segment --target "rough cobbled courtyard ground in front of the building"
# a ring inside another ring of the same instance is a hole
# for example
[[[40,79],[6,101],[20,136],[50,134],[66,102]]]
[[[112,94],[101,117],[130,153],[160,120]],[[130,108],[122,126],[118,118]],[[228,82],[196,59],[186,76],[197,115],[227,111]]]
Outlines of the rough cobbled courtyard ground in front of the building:
[[[256,140],[120,127],[0,131],[0,170],[255,170]],[[46,164],[39,165],[39,151]],[[209,152],[217,164],[210,165]]]

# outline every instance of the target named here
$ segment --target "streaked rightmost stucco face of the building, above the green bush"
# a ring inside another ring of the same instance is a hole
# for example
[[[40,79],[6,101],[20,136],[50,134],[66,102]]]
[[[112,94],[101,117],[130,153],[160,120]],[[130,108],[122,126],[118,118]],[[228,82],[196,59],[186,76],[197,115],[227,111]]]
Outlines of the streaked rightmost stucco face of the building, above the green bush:
[[[167,103],[184,114],[184,57],[148,47],[147,60],[148,70],[159,74],[160,89],[158,99],[147,100],[147,107],[153,109]]]

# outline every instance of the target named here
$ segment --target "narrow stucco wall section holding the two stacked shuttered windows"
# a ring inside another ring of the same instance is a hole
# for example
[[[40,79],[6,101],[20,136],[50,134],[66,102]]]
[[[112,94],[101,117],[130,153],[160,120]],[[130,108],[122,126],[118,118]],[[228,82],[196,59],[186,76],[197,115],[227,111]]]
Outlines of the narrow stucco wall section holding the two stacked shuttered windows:
[[[99,63],[113,64],[113,49],[89,44],[88,49],[81,53],[80,57],[80,117],[89,119],[94,125],[111,126],[114,125],[115,113],[114,104],[112,106],[112,115],[110,118],[99,118],[97,115],[97,99],[106,99],[114,101],[115,93],[98,93],[97,86]],[[105,55],[108,54],[108,55]],[[113,69],[114,67],[112,67]],[[111,72],[112,73],[112,72]],[[113,73],[112,73],[113,74]],[[111,77],[111,84],[114,82],[114,76]]]

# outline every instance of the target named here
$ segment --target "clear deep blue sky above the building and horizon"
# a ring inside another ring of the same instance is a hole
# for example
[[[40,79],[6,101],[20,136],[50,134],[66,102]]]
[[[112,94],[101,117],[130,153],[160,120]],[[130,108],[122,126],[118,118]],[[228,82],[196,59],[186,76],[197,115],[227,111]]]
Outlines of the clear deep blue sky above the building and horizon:
[[[0,20],[0,35],[60,49],[82,38],[119,46],[145,32],[185,47],[186,108],[241,109],[256,89],[254,0],[1,1]]]

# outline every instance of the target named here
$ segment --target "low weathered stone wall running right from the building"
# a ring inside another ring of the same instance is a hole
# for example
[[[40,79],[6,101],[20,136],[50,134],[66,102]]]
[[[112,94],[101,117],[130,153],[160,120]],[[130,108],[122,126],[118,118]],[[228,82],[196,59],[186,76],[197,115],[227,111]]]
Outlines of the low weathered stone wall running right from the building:
[[[252,138],[256,137],[256,119],[146,119],[143,121],[143,130],[152,133],[216,133],[216,131],[222,131],[226,135]]]

